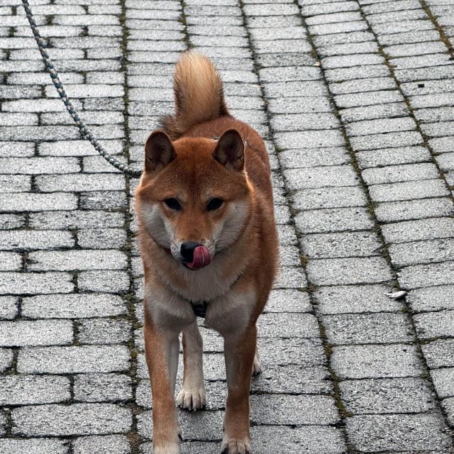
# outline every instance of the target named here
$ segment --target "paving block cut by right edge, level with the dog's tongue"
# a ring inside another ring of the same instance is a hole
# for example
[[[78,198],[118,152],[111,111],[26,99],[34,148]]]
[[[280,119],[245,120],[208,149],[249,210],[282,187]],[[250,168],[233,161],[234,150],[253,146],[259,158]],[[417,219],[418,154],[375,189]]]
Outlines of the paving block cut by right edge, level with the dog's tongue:
[[[454,257],[454,240],[443,238],[390,245],[389,254],[392,262],[398,267],[443,262]]]

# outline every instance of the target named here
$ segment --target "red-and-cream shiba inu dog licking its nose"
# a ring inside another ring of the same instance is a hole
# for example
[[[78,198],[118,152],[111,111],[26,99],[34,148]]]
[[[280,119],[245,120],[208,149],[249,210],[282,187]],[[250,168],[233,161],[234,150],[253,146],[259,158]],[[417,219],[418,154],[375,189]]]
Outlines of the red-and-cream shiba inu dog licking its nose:
[[[260,135],[228,113],[208,58],[182,55],[174,91],[175,115],[148,138],[135,192],[153,449],[181,452],[174,400],[179,333],[184,377],[177,404],[205,406],[199,315],[224,339],[228,397],[221,450],[252,453],[249,389],[251,374],[260,372],[255,324],[278,263],[270,163]]]

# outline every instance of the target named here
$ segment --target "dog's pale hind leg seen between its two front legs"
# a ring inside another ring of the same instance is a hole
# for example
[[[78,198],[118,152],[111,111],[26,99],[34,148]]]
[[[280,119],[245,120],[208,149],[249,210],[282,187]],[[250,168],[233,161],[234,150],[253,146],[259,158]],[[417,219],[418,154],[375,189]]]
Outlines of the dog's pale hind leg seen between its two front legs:
[[[206,405],[203,367],[203,343],[197,321],[183,329],[184,375],[177,404],[182,409],[196,411]]]

